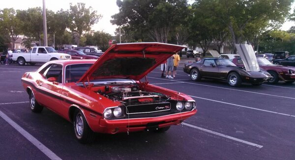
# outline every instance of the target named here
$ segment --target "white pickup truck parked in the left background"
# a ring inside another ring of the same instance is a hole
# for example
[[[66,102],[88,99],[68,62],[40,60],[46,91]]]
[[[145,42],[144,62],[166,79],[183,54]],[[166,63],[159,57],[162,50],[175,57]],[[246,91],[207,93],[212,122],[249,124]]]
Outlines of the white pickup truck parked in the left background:
[[[59,53],[51,46],[34,46],[30,53],[12,53],[12,61],[16,61],[20,66],[29,63],[34,66],[39,62],[48,62],[60,59],[71,59],[71,55]]]

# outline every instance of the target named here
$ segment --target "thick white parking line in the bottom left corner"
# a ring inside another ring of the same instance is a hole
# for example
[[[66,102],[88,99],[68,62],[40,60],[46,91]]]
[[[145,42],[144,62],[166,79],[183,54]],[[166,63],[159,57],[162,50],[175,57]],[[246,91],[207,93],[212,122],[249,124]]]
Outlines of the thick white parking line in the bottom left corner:
[[[41,152],[43,152],[51,160],[61,160],[55,153],[53,153],[49,148],[43,145],[39,140],[30,135],[21,126],[10,119],[6,114],[0,111],[0,117],[2,117],[7,123],[9,123],[14,129],[16,129],[20,134],[27,138],[34,146],[36,146]]]

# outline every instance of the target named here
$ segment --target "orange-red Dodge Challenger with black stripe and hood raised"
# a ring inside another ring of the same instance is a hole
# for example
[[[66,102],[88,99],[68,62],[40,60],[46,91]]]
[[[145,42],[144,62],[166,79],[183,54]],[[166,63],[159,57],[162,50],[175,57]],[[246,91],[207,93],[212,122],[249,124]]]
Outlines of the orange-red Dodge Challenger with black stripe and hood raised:
[[[25,73],[22,84],[31,111],[46,107],[72,122],[81,143],[94,133],[165,132],[196,114],[195,100],[141,79],[182,48],[116,44],[98,60],[50,61]]]

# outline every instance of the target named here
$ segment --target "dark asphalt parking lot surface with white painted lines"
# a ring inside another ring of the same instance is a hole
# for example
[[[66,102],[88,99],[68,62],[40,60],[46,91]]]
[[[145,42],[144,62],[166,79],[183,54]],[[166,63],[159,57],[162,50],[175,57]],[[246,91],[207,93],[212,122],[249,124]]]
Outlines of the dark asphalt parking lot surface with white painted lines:
[[[182,66],[175,79],[160,78],[159,67],[147,78],[190,95],[197,114],[166,133],[98,134],[95,143],[85,145],[57,114],[30,111],[20,79],[40,65],[0,65],[0,160],[295,159],[295,83],[233,88],[226,82],[191,81]]]

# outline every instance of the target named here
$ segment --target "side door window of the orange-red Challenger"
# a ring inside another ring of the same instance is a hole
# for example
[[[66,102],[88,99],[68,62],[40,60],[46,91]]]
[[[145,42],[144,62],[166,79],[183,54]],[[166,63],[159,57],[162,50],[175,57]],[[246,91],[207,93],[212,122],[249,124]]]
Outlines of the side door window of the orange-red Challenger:
[[[49,68],[47,68],[43,73],[45,78],[55,77],[57,78],[57,82],[61,83],[62,78],[62,65],[52,64]]]

